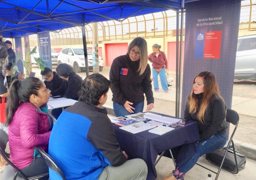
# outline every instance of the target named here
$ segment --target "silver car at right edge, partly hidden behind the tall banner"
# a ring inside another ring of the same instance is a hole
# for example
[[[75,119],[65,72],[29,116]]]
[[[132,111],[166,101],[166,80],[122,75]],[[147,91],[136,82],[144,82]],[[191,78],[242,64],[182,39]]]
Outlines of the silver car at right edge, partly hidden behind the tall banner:
[[[256,80],[256,35],[238,37],[234,79]]]

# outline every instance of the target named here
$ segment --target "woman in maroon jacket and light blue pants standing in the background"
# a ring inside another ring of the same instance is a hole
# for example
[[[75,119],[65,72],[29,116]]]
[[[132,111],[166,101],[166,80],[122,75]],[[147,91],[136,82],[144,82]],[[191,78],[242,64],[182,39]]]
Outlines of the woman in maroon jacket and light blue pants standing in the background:
[[[152,46],[153,52],[148,56],[148,60],[152,63],[152,76],[154,82],[155,92],[159,92],[158,74],[160,76],[161,86],[165,93],[168,93],[167,77],[165,70],[167,69],[167,58],[163,51],[160,51],[161,46],[154,44]]]

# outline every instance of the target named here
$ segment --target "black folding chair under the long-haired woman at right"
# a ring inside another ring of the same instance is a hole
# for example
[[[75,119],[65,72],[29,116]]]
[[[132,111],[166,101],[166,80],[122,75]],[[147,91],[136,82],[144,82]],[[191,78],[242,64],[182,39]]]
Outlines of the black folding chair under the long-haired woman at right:
[[[221,161],[221,165],[220,165],[220,167],[219,167],[218,172],[215,172],[215,171],[213,171],[213,170],[211,170],[211,169],[208,169],[208,168],[206,168],[206,167],[204,167],[204,166],[202,166],[202,165],[200,165],[200,164],[197,163],[197,165],[199,165],[199,166],[201,166],[201,167],[203,167],[203,168],[205,168],[205,169],[207,169],[207,170],[209,170],[209,171],[215,173],[215,174],[216,174],[215,180],[218,179],[218,176],[219,176],[219,174],[220,174],[220,172],[221,172],[221,167],[222,167],[222,165],[223,165],[223,163],[224,163],[224,160],[225,160],[225,158],[226,158],[226,154],[227,154],[227,152],[228,152],[228,150],[229,150],[230,148],[233,149],[234,158],[235,158],[235,162],[236,162],[236,169],[237,169],[237,170],[236,170],[236,172],[235,172],[234,174],[237,174],[237,173],[238,173],[237,156],[236,156],[235,145],[234,145],[234,142],[233,142],[233,136],[234,136],[234,134],[235,134],[235,132],[236,132],[236,130],[237,130],[237,125],[238,125],[238,122],[239,122],[239,116],[238,116],[237,112],[234,111],[234,110],[231,110],[231,109],[227,109],[226,121],[229,122],[229,123],[232,123],[233,125],[235,125],[235,129],[234,129],[234,131],[233,131],[233,133],[232,133],[230,139],[229,139],[229,140],[227,141],[227,143],[225,144],[225,146],[222,147],[222,148],[220,148],[220,149],[218,149],[218,150],[216,150],[216,151],[225,150],[225,154],[224,154],[224,157],[223,157],[223,159],[222,159],[222,161]],[[230,145],[231,143],[232,143],[232,145]],[[215,151],[215,152],[216,152],[216,151]]]

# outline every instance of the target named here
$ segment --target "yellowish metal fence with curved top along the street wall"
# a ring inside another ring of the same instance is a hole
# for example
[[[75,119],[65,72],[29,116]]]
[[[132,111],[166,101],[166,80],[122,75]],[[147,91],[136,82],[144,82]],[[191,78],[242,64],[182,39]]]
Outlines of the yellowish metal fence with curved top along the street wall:
[[[256,0],[241,1],[239,30],[256,31]],[[185,18],[184,18],[185,19]],[[183,27],[185,27],[185,22]],[[86,42],[92,43],[92,24],[85,25]],[[255,32],[256,34],[256,32]],[[162,11],[142,16],[130,17],[122,22],[98,22],[98,41],[154,38],[176,36],[176,12]],[[72,27],[59,33],[50,32],[51,46],[81,45],[82,28]],[[37,45],[37,34],[29,36],[30,45]]]

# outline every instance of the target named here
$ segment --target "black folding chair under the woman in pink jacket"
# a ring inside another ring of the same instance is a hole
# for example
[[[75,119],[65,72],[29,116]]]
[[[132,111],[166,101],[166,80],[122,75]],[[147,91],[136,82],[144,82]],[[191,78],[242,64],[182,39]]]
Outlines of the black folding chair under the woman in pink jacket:
[[[0,129],[0,154],[3,156],[4,160],[9,163],[4,168],[4,173],[3,173],[3,179],[4,180],[33,180],[33,179],[38,179],[40,177],[48,176],[49,173],[41,174],[38,176],[33,176],[33,177],[27,177],[25,176],[7,157],[7,154],[5,152],[6,144],[8,142],[8,135],[6,132],[2,129]],[[16,170],[13,170],[14,168]],[[19,175],[19,176],[18,176]]]

